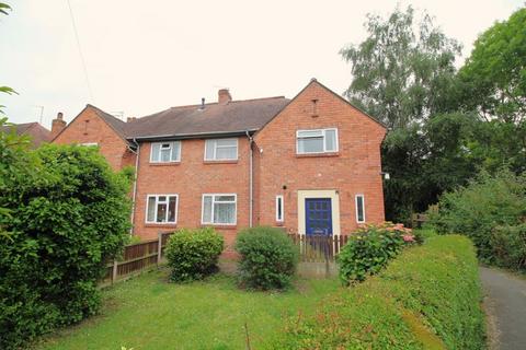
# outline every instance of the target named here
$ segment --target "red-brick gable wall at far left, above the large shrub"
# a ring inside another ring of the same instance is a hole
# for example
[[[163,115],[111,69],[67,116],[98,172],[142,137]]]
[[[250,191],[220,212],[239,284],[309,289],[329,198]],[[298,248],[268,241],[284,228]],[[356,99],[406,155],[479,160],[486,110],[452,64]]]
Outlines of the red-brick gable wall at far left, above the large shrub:
[[[135,166],[135,154],[127,149],[126,142],[91,107],[84,108],[53,142],[95,142],[113,170]]]

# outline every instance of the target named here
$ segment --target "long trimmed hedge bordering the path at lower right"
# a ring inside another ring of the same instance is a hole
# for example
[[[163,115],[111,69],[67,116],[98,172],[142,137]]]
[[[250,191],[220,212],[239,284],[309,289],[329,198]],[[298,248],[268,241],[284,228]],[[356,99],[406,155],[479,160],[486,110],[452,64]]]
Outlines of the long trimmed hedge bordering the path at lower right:
[[[428,238],[376,277],[290,319],[278,349],[484,349],[478,262],[459,235]]]

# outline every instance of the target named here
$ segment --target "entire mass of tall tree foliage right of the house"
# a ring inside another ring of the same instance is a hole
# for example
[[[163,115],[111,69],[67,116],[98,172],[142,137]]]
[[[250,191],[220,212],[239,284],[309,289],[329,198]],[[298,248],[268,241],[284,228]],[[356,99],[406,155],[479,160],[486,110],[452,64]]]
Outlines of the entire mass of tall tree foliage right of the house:
[[[386,215],[402,222],[480,170],[526,171],[526,10],[484,32],[459,71],[458,43],[415,13],[369,14],[367,38],[341,51],[352,65],[346,96],[391,127]]]

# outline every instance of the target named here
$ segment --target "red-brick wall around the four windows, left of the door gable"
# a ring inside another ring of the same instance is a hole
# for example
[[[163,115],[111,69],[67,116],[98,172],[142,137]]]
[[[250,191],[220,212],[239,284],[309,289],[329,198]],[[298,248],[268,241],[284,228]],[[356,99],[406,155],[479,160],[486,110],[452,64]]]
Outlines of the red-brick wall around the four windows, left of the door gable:
[[[135,210],[135,233],[142,238],[157,237],[158,232],[176,228],[199,228],[203,194],[237,194],[237,225],[216,226],[228,247],[237,231],[249,226],[249,141],[239,138],[237,162],[205,162],[205,140],[182,140],[181,162],[152,164],[151,143],[140,144]],[[179,195],[178,223],[146,223],[148,195]]]

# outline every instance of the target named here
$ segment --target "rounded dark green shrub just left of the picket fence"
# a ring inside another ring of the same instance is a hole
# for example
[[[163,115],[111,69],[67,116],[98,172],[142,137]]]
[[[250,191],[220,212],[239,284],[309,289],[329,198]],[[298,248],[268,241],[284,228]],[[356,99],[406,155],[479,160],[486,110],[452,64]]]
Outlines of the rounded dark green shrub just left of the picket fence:
[[[236,250],[240,281],[254,289],[284,289],[290,283],[298,262],[293,241],[277,228],[247,229],[238,234]]]

